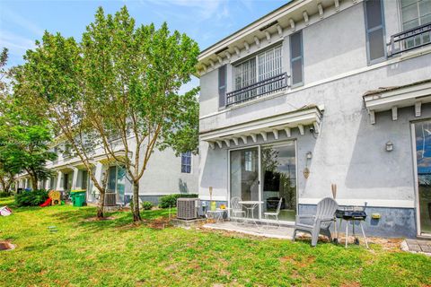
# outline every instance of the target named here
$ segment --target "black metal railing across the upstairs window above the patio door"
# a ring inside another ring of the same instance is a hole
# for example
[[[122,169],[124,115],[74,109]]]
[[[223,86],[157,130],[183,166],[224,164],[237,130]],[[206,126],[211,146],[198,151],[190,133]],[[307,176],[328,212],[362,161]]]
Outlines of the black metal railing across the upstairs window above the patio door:
[[[285,89],[287,87],[287,78],[287,73],[277,74],[250,86],[228,92],[226,94],[226,107]]]

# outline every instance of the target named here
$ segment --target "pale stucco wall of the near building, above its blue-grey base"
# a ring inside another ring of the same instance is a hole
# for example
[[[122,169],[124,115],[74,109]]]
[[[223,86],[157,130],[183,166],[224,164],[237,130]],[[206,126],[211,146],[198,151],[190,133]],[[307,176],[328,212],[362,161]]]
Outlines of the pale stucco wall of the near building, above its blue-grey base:
[[[385,2],[384,9],[389,41],[391,34],[400,30],[398,4]],[[283,114],[308,104],[322,105],[324,113],[317,139],[308,129],[305,135],[294,129],[291,137],[297,141],[299,202],[315,204],[322,197],[331,196],[330,185],[335,183],[341,203],[346,200],[351,204],[414,207],[410,121],[430,118],[431,108],[423,105],[421,117],[414,117],[413,108],[400,109],[398,121],[392,121],[390,113],[379,113],[377,123],[371,125],[362,96],[378,87],[431,78],[431,54],[369,66],[365,44],[364,5],[358,3],[303,29],[302,87],[218,111],[217,71],[202,75],[200,132]],[[283,45],[285,71],[289,71],[288,38]],[[286,140],[286,134],[280,134],[277,142]],[[262,143],[262,138],[258,138],[258,143]],[[394,143],[393,152],[384,150],[388,141]],[[267,143],[271,142],[275,141],[268,134]],[[250,140],[247,145],[240,141],[234,148],[253,144],[256,143]],[[305,179],[302,171],[309,151],[313,154],[308,163],[311,175]],[[199,195],[208,199],[208,187],[214,187],[213,199],[227,200],[228,149],[224,145],[211,150],[201,141],[200,157]]]

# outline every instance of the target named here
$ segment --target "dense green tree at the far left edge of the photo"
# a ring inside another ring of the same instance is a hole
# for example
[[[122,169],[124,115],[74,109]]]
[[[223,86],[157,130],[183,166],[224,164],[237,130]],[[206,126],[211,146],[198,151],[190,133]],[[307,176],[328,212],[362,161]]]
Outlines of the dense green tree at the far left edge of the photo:
[[[31,115],[14,99],[9,87],[13,71],[5,68],[6,62],[4,48],[0,57],[0,183],[8,191],[14,176],[25,170],[37,188],[40,179],[48,178],[46,161],[56,157],[48,151],[51,131],[47,121]]]

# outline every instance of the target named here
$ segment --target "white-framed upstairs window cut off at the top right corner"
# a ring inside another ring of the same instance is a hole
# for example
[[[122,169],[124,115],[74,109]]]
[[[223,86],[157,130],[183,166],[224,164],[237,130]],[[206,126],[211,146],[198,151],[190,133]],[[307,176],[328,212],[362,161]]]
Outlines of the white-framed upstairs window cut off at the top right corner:
[[[431,22],[430,0],[400,0],[402,30],[414,29]],[[406,48],[417,47],[430,42],[430,33],[420,34],[405,42]]]

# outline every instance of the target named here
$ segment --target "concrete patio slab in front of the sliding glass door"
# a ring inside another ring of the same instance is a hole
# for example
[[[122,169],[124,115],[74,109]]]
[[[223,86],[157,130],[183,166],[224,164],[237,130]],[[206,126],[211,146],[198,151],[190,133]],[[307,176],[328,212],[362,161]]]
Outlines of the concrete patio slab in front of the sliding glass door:
[[[237,223],[237,222],[218,222],[218,223],[207,223],[203,225],[204,228],[211,230],[225,230],[231,232],[239,232],[254,236],[262,236],[273,239],[292,239],[294,235],[294,229],[288,226],[267,226],[258,225],[254,223]]]

